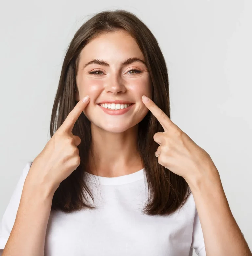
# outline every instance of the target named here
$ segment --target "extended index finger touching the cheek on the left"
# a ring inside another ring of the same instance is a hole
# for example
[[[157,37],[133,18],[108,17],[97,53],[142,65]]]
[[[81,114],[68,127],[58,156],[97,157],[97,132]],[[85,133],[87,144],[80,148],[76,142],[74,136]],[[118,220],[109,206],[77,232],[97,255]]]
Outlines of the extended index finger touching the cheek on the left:
[[[86,100],[86,101],[85,101]],[[58,130],[71,132],[73,130],[74,124],[79,118],[82,111],[88,105],[90,97],[87,95],[83,99],[81,99],[76,106],[69,112],[67,118],[62,123]]]

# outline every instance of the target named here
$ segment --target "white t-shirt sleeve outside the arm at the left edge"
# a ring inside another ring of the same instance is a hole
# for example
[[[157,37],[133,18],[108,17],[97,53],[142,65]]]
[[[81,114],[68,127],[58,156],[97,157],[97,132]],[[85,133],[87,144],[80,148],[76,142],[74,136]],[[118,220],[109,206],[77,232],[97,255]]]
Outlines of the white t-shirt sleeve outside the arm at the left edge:
[[[32,162],[27,162],[20,177],[18,183],[12,193],[11,199],[7,205],[7,208],[4,212],[3,218],[0,224],[0,251],[4,249],[5,244],[11,234],[11,230],[14,226],[14,222],[17,215],[17,210],[19,207],[21,194],[23,191],[23,186],[25,183],[26,176],[30,169]],[[0,252],[1,255],[1,252]]]

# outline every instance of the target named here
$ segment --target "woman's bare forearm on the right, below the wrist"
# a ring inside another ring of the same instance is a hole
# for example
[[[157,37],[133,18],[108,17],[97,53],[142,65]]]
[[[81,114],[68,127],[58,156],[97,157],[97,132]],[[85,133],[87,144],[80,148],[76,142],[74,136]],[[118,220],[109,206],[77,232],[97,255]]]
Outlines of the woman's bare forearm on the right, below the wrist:
[[[208,174],[188,182],[199,214],[207,256],[251,256],[226,199],[219,173],[211,167]]]

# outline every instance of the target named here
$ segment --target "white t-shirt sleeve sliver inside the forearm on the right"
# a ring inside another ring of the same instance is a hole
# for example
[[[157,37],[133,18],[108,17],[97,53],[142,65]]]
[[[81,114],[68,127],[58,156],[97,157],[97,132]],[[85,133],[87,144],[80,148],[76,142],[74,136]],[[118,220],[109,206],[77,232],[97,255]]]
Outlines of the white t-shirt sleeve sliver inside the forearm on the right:
[[[194,223],[193,223],[193,238],[191,248],[193,248],[197,255],[199,256],[206,256],[205,251],[205,243],[203,232],[200,224],[200,218],[197,212],[195,211]]]

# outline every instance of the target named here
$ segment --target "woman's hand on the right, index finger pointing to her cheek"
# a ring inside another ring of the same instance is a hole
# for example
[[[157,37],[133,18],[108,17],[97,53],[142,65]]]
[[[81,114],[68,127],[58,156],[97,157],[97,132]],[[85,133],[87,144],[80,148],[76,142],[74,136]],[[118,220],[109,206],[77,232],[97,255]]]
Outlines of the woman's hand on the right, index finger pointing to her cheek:
[[[157,132],[153,139],[160,146],[155,155],[158,163],[186,181],[205,175],[214,163],[209,154],[185,134],[158,106],[148,97],[143,96],[143,103],[158,119],[164,132]]]

